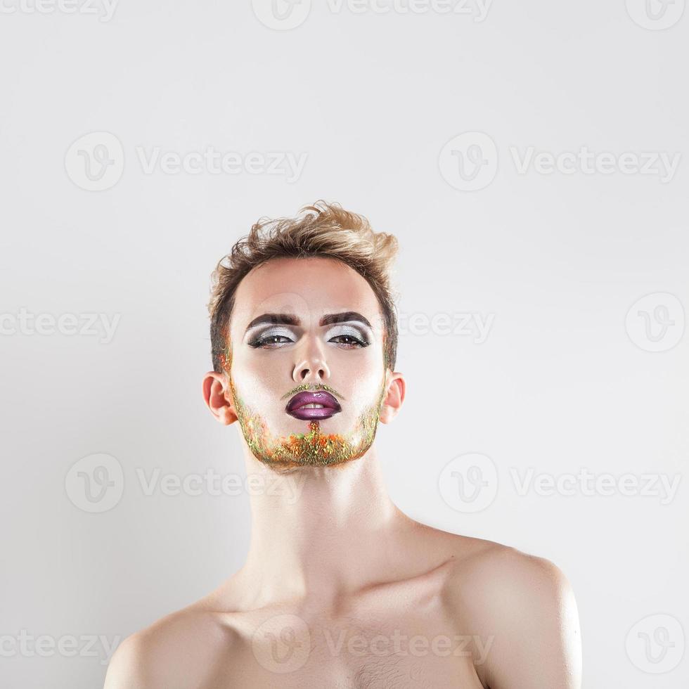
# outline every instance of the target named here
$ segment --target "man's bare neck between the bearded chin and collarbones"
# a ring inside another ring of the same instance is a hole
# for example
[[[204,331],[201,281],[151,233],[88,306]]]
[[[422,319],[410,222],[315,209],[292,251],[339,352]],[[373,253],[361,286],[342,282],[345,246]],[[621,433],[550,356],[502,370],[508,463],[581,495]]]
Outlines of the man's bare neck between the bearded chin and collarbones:
[[[247,456],[247,473],[266,487],[251,497],[250,548],[238,574],[251,604],[327,607],[389,576],[411,520],[387,495],[373,446],[339,466],[284,474]]]

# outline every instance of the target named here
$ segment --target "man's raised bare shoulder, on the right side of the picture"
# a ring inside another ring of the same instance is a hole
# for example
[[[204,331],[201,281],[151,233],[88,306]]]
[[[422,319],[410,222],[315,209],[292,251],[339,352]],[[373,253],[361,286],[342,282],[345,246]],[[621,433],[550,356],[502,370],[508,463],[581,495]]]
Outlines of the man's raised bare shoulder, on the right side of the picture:
[[[446,598],[479,639],[479,677],[491,689],[578,689],[581,633],[572,586],[546,558],[501,543],[446,534]]]

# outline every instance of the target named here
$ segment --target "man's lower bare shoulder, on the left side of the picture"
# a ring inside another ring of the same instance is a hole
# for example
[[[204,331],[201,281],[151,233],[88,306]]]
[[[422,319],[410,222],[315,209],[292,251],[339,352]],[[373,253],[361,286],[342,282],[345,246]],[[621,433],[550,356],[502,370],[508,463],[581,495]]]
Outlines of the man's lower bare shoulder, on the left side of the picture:
[[[202,602],[128,636],[117,648],[105,689],[175,689],[203,685],[236,633]]]

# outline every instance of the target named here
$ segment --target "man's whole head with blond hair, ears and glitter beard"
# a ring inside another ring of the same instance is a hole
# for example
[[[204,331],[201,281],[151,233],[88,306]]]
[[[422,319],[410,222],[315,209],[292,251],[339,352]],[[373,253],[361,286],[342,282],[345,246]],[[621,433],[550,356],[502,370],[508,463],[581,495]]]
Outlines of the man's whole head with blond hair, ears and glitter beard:
[[[394,371],[397,240],[316,202],[262,219],[212,276],[206,404],[274,470],[363,457],[404,400]]]

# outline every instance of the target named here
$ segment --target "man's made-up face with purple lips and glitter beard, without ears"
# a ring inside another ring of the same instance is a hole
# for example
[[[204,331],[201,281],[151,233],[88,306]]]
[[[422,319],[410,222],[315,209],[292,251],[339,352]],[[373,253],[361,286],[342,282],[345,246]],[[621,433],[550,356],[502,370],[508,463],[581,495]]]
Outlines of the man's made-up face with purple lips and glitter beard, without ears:
[[[325,258],[273,259],[236,292],[224,368],[253,455],[341,465],[373,443],[388,382],[371,286]]]

